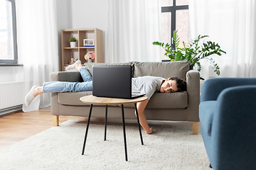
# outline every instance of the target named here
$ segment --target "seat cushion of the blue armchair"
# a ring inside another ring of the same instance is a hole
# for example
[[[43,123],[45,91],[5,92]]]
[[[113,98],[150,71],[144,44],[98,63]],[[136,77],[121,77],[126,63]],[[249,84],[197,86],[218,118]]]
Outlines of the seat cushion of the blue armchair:
[[[217,101],[204,101],[199,105],[199,119],[201,128],[210,136],[213,125],[213,113],[216,110]]]

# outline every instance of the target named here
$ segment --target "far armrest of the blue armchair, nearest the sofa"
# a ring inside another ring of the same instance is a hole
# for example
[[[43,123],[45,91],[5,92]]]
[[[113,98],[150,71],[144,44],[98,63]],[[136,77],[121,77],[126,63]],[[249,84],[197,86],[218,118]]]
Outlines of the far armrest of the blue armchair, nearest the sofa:
[[[256,78],[213,78],[203,82],[201,102],[216,101],[220,92],[232,86],[256,84]]]

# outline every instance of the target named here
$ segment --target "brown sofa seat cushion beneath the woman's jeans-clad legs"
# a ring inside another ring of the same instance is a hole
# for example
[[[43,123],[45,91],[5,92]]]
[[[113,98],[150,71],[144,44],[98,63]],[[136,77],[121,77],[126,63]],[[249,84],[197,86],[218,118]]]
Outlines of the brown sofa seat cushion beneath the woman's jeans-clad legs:
[[[69,105],[69,106],[90,106],[89,103],[82,103],[82,101],[80,101],[80,98],[82,96],[88,96],[88,95],[92,95],[92,91],[58,93],[58,103],[62,105]],[[103,105],[97,105],[97,106],[103,106]],[[112,106],[118,106],[118,105],[112,105]]]

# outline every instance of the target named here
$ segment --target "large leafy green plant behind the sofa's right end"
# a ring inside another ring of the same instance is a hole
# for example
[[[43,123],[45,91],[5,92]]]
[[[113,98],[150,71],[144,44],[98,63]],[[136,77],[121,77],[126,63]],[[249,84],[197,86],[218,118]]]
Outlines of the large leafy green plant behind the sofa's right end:
[[[206,41],[201,43],[203,38],[208,37],[208,35],[198,35],[197,38],[191,40],[191,43],[186,45],[185,42],[183,43],[183,47],[178,47],[179,45],[179,38],[178,38],[178,30],[174,30],[174,44],[175,48],[171,47],[169,43],[164,42],[153,42],[154,45],[159,45],[164,47],[165,54],[167,57],[171,59],[171,61],[188,61],[190,63],[190,67],[193,68],[197,66],[198,72],[201,71],[201,64],[200,60],[206,59],[213,64],[213,69],[218,76],[220,75],[220,67],[218,64],[215,63],[211,55],[222,55],[226,53],[225,51],[220,49],[220,45],[215,42]]]

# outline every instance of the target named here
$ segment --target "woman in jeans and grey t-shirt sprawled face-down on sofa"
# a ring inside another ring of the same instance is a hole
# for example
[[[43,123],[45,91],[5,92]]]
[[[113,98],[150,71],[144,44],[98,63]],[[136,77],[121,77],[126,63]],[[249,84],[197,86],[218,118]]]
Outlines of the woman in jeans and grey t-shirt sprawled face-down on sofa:
[[[92,76],[86,68],[82,67],[80,60],[67,67],[67,69],[73,68],[78,69],[83,82],[50,81],[45,82],[43,86],[33,86],[26,95],[26,106],[31,104],[33,98],[43,93],[92,91]],[[137,110],[139,114],[139,122],[142,125],[143,131],[147,134],[151,134],[152,128],[149,128],[144,115],[144,109],[146,108],[147,103],[149,103],[149,99],[156,91],[161,93],[186,91],[186,81],[183,81],[183,79],[178,77],[171,77],[169,79],[151,76],[137,77],[132,78],[132,91],[140,91],[141,93],[146,94],[147,99],[137,103]]]

